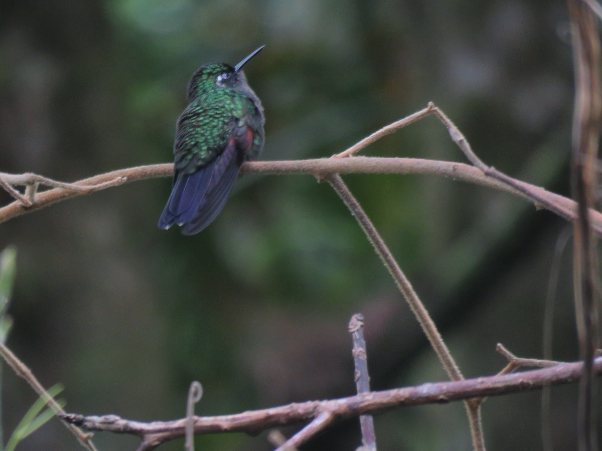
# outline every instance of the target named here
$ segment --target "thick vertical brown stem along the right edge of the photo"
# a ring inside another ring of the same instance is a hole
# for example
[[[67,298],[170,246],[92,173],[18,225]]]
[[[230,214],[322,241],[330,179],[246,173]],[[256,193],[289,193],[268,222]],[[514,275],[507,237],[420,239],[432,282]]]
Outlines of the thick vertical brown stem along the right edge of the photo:
[[[596,158],[602,118],[600,40],[591,9],[581,0],[569,0],[575,73],[571,182],[577,201],[573,227],[573,268],[577,331],[584,373],[579,391],[579,449],[597,446],[593,359],[598,346],[598,275],[596,239],[589,207],[594,205]]]

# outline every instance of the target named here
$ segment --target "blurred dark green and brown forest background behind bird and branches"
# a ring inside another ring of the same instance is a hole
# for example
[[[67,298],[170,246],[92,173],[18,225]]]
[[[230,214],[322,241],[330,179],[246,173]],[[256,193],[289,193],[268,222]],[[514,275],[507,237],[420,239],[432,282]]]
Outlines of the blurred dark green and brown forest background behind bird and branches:
[[[170,162],[190,75],[260,44],[245,71],[265,106],[262,159],[330,156],[432,100],[485,162],[568,194],[568,14],[546,1],[2,0],[0,171],[73,181]],[[365,154],[464,161],[435,118]],[[541,357],[546,305],[553,357],[576,359],[564,221],[453,180],[345,179],[465,376],[504,366],[498,342]],[[46,386],[66,386],[68,411],[179,418],[195,379],[205,387],[198,414],[353,394],[347,322],[358,311],[373,388],[446,379],[329,186],[245,176],[219,218],[190,237],[157,229],[169,189],[169,179],[131,183],[0,225],[0,246],[18,252],[8,345]],[[552,390],[553,449],[576,446],[576,393]],[[6,369],[2,396],[7,435],[35,396]],[[542,449],[540,393],[489,399],[483,421],[490,450]],[[358,430],[342,423],[302,450],[353,450]],[[471,446],[461,403],[384,414],[376,433],[383,450]],[[95,442],[138,444],[111,434]],[[272,449],[265,434],[196,443]],[[20,449],[79,447],[53,421]]]

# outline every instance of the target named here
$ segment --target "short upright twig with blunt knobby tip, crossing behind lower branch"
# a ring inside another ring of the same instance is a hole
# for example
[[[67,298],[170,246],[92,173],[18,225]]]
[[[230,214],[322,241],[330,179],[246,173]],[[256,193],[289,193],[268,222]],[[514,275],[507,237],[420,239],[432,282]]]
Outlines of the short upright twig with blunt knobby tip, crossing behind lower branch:
[[[349,333],[353,339],[353,363],[355,365],[355,385],[360,393],[370,391],[370,375],[368,374],[368,355],[364,339],[364,315],[356,313],[349,322]],[[359,416],[362,431],[362,451],[376,451],[376,434],[374,420],[371,415]]]

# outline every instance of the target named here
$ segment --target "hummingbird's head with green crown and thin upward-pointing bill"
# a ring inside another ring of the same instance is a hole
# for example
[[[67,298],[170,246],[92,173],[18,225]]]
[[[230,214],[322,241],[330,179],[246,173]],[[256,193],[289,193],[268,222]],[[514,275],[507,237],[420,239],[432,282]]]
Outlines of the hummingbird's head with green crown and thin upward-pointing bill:
[[[247,78],[241,67],[264,47],[259,47],[234,67],[226,63],[211,63],[199,67],[188,83],[188,100],[220,89],[235,91],[247,89]]]

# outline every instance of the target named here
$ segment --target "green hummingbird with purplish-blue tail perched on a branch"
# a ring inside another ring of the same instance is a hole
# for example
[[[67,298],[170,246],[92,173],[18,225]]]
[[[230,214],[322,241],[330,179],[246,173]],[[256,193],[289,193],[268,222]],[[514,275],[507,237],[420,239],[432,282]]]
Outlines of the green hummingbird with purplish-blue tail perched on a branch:
[[[188,83],[188,106],[176,122],[172,192],[160,229],[184,235],[205,229],[222,210],[241,164],[264,144],[264,110],[241,68],[265,46],[232,67],[199,67]]]

